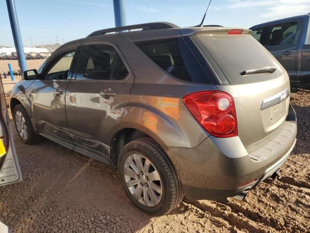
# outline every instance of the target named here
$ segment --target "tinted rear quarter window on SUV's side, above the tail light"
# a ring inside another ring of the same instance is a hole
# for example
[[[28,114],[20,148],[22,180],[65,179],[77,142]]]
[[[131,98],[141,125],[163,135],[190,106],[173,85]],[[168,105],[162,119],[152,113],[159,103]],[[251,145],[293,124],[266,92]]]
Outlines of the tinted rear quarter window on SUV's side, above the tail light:
[[[136,42],[136,45],[175,78],[194,83],[211,83],[183,38]]]

